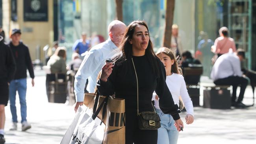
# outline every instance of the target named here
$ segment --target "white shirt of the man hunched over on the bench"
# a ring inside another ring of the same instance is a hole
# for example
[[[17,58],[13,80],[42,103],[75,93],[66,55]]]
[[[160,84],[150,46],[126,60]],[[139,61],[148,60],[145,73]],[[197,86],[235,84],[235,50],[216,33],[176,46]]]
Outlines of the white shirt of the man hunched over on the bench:
[[[229,76],[243,76],[239,57],[232,51],[221,55],[213,65],[211,79],[228,78]]]

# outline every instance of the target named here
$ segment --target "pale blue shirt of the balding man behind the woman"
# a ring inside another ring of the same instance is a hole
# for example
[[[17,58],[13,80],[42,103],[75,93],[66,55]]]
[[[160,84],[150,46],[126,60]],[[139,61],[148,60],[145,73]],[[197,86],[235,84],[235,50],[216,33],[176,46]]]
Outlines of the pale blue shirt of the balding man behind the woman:
[[[87,91],[94,92],[98,73],[105,65],[105,59],[111,58],[117,53],[117,46],[110,38],[105,42],[97,44],[85,55],[80,68],[75,76],[74,93],[76,102],[83,102],[84,87],[88,79]]]

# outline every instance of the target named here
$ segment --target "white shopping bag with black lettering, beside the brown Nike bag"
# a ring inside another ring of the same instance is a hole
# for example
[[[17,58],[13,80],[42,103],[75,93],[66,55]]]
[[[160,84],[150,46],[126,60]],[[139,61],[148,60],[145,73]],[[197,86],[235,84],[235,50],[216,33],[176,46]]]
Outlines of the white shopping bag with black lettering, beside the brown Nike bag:
[[[101,144],[105,135],[105,124],[99,118],[93,120],[91,111],[80,106],[78,112],[65,133],[61,144]],[[77,118],[79,116],[79,118]]]

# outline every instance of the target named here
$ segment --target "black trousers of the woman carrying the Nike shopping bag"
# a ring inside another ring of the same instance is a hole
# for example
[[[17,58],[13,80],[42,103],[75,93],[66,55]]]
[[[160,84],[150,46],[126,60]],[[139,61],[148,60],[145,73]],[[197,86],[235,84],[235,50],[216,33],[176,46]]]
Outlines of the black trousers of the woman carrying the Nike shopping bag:
[[[157,144],[158,130],[141,130],[137,112],[126,112],[125,144]]]

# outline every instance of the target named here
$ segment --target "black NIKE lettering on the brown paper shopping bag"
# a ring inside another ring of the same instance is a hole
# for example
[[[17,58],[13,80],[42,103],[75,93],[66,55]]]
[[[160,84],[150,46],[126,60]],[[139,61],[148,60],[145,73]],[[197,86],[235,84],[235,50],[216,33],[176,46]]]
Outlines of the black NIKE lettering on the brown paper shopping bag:
[[[110,113],[109,126],[125,126],[125,113]]]

